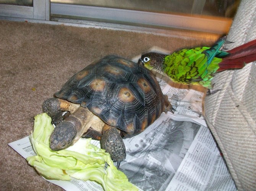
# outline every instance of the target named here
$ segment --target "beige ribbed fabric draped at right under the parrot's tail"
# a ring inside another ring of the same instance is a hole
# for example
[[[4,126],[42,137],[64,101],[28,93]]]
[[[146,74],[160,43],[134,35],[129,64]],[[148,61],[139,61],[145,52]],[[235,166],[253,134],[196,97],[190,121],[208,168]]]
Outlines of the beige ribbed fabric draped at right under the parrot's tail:
[[[242,0],[225,48],[256,39],[256,0]],[[256,62],[217,73],[206,96],[206,122],[224,154],[238,190],[256,190]]]

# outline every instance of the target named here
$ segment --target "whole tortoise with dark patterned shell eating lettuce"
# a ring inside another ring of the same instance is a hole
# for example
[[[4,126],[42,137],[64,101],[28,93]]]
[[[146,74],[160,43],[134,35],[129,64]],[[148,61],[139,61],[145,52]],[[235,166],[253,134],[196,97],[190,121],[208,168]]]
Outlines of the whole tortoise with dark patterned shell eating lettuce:
[[[56,125],[50,148],[58,151],[80,137],[100,140],[113,162],[126,158],[122,138],[144,131],[162,112],[172,111],[154,75],[142,65],[106,56],[73,75],[43,103]],[[62,113],[70,115],[63,120]]]

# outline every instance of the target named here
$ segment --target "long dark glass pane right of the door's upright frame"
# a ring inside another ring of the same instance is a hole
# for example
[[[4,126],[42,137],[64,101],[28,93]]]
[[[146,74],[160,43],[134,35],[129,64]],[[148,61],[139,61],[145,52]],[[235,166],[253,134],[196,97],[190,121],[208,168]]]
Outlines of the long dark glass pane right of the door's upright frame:
[[[233,17],[240,0],[51,0],[51,3],[100,6],[167,14]]]

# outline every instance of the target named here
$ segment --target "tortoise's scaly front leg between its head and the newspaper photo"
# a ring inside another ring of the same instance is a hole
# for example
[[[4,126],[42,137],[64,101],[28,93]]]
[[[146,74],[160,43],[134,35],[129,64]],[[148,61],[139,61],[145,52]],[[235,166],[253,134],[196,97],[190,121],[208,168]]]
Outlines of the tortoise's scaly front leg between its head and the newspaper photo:
[[[120,162],[126,158],[126,149],[123,139],[115,127],[105,124],[102,128],[102,136],[100,146],[110,154],[111,159],[117,162],[119,167]]]

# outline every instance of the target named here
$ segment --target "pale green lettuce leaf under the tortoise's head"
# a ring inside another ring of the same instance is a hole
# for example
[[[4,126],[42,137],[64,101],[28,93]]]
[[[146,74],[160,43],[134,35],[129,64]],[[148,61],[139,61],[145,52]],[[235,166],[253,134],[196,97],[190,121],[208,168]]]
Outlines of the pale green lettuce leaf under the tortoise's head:
[[[36,156],[28,163],[46,179],[96,181],[104,190],[138,190],[126,175],[115,167],[109,153],[91,144],[91,139],[80,138],[73,146],[52,151],[49,138],[53,126],[46,113],[35,116],[34,130],[29,135]],[[107,164],[107,167],[105,167]]]

